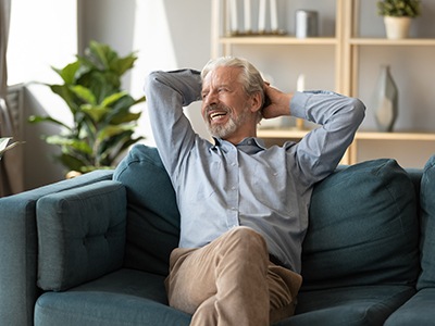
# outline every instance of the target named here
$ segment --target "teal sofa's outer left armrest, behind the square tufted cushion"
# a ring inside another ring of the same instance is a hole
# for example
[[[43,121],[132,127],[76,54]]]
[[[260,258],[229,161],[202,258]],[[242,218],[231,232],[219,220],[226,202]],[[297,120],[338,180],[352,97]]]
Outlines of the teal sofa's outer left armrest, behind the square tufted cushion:
[[[36,202],[41,197],[112,178],[96,171],[18,195],[0,198],[0,321],[33,325],[40,290],[37,278]]]

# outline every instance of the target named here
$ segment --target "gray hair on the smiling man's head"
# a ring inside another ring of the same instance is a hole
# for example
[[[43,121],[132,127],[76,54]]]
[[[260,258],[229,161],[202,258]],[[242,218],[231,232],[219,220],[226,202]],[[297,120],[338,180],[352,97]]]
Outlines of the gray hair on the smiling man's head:
[[[202,80],[206,76],[217,67],[238,67],[241,70],[239,75],[239,82],[241,83],[245,92],[248,96],[252,96],[257,92],[261,97],[261,109],[263,109],[265,96],[264,96],[264,79],[261,73],[246,59],[234,58],[234,57],[221,57],[217,59],[210,60],[206,66],[202,68],[201,78]],[[259,122],[262,117],[262,110],[259,110]]]

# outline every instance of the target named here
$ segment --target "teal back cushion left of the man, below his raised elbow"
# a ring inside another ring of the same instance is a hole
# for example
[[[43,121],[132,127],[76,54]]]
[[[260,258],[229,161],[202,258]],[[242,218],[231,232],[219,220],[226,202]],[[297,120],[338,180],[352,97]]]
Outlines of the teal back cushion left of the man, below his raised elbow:
[[[144,145],[133,147],[113,178],[127,189],[124,265],[167,275],[170,253],[178,246],[179,213],[157,149]]]

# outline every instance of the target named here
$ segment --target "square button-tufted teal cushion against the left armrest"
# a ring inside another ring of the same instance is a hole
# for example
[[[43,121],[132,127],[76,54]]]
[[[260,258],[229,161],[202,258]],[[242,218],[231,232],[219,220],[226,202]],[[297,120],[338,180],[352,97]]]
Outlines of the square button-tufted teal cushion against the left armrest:
[[[37,202],[38,286],[61,291],[122,267],[126,192],[107,180]]]

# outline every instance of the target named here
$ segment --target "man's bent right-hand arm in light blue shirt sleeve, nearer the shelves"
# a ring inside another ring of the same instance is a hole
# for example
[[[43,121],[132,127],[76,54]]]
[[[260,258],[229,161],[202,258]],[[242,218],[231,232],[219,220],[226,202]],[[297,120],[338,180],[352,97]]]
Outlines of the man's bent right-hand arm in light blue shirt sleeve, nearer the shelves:
[[[308,184],[332,173],[360,126],[365,106],[355,98],[334,92],[295,93],[291,114],[321,125],[298,143],[296,159],[304,167]]]

